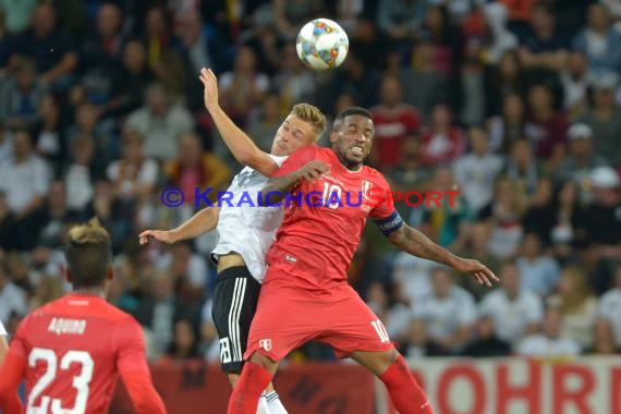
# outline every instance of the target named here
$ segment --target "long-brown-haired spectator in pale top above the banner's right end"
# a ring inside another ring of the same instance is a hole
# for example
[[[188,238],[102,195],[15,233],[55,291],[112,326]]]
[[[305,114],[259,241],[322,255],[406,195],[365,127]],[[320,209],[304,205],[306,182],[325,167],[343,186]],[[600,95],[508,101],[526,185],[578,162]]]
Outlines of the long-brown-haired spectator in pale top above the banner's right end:
[[[548,307],[562,315],[561,336],[577,342],[584,351],[593,350],[597,297],[588,283],[584,269],[570,265],[561,273],[559,293],[550,296]]]

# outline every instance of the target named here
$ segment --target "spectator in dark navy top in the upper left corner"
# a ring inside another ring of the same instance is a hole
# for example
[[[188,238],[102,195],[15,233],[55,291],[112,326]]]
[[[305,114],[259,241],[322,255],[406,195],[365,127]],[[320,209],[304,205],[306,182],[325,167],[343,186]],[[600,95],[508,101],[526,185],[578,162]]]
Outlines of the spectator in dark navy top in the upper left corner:
[[[40,82],[65,89],[77,68],[78,56],[73,40],[57,23],[57,12],[51,3],[37,4],[31,27],[13,44],[11,60],[14,64],[17,56],[34,59]]]

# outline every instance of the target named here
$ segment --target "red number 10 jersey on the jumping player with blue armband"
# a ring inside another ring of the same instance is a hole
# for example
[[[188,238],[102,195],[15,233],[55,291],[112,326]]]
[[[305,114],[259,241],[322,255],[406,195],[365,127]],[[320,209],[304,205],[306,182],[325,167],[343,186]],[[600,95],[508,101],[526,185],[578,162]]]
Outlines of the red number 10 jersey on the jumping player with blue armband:
[[[394,212],[394,205],[381,173],[366,166],[350,171],[329,148],[309,146],[297,150],[275,176],[287,175],[312,160],[330,166],[330,171],[293,188],[289,208],[287,198],[282,200],[284,218],[266,261],[281,270],[288,267],[285,283],[290,287],[326,291],[346,283],[346,270],[367,217],[386,219]],[[381,199],[369,199],[372,192]],[[321,206],[317,206],[319,203]],[[266,283],[272,281],[270,273],[277,272],[268,267]]]

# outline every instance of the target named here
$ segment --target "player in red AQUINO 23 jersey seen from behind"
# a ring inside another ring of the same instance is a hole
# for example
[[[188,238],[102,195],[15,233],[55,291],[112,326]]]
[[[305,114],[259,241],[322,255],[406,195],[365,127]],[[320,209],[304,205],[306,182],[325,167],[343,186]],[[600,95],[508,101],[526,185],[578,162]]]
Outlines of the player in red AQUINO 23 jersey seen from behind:
[[[0,368],[0,409],[23,413],[25,379],[27,413],[107,413],[120,374],[137,413],[166,413],[141,326],[104,299],[113,276],[108,232],[96,219],[71,229],[65,256],[74,292],[20,324]]]

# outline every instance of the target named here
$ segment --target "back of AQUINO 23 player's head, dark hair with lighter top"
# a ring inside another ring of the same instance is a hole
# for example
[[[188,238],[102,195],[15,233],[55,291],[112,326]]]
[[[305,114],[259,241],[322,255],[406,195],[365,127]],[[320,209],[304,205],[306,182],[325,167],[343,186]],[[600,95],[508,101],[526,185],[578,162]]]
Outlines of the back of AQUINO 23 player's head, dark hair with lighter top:
[[[97,218],[72,228],[64,249],[73,288],[104,284],[112,263],[110,234]]]

